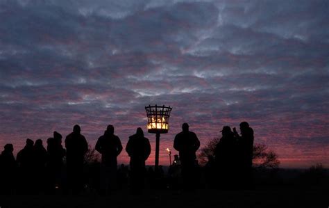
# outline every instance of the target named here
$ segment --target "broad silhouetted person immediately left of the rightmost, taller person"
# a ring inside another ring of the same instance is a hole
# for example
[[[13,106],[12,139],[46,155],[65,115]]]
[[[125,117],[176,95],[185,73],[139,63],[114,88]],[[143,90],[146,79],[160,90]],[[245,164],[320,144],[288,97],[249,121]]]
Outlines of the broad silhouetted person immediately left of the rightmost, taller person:
[[[228,126],[221,130],[222,137],[214,150],[215,165],[217,172],[216,182],[219,186],[233,188],[237,173],[237,141]]]

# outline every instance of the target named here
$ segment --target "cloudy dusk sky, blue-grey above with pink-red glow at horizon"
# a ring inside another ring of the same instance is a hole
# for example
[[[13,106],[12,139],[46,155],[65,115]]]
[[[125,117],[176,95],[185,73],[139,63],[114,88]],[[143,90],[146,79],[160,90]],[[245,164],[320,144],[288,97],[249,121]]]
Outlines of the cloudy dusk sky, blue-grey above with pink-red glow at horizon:
[[[282,168],[329,167],[329,1],[0,0],[0,149],[81,125],[126,147],[172,106],[168,165],[189,123],[204,146],[247,121]],[[238,129],[238,128],[237,128]],[[125,151],[119,163],[128,163]]]

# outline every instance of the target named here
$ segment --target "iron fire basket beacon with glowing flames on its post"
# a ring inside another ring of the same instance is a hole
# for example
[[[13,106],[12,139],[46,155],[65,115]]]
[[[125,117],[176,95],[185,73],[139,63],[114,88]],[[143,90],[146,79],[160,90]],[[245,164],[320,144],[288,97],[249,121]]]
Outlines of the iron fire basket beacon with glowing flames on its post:
[[[169,129],[170,106],[145,106],[147,131],[155,134],[155,170],[159,168],[160,134],[167,134]]]

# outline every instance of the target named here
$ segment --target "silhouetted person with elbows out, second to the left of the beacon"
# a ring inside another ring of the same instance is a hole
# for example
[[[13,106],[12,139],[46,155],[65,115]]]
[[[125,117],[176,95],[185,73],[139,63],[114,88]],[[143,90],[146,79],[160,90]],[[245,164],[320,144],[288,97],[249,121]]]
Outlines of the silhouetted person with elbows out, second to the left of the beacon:
[[[122,151],[120,138],[114,134],[115,127],[108,125],[103,136],[96,142],[95,150],[101,153],[101,189],[115,189],[117,184],[117,156]]]

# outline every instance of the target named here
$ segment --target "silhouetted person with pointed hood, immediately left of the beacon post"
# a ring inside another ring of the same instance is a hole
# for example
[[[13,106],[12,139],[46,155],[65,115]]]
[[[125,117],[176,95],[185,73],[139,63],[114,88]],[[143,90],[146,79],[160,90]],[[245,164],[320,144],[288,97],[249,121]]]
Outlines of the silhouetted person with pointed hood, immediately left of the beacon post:
[[[151,154],[151,145],[144,137],[142,128],[137,128],[136,134],[129,136],[126,152],[130,157],[131,183],[133,192],[144,186],[145,161]]]

